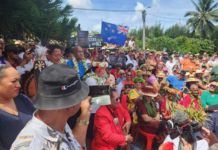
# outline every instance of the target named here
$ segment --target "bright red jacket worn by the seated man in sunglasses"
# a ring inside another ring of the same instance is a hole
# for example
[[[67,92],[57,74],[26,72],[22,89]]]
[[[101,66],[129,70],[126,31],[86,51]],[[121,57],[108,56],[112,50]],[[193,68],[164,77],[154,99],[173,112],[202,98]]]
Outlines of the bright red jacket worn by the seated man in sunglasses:
[[[114,117],[106,106],[101,106],[95,114],[94,118],[94,139],[92,141],[93,150],[114,150],[117,146],[123,146],[126,136],[122,134],[124,120],[131,122],[129,112],[122,105],[113,111],[117,114],[119,125],[114,124]]]

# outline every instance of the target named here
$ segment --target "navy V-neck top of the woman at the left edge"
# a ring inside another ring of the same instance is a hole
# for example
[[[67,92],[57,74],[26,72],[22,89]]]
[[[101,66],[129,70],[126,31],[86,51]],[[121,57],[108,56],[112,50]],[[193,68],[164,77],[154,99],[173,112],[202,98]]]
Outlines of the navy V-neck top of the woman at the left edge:
[[[26,123],[32,119],[36,110],[32,102],[26,96],[18,94],[14,98],[18,116],[0,109],[0,150],[9,150],[17,135]]]

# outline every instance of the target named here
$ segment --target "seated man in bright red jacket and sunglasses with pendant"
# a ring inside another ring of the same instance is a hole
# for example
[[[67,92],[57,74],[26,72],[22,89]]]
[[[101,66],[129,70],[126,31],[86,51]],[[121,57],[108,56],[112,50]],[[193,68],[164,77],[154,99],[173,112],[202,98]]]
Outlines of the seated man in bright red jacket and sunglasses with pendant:
[[[96,112],[92,150],[115,150],[126,146],[130,150],[140,150],[130,144],[133,141],[133,137],[128,135],[131,118],[120,105],[120,95],[111,89],[110,98],[111,104],[101,106]]]

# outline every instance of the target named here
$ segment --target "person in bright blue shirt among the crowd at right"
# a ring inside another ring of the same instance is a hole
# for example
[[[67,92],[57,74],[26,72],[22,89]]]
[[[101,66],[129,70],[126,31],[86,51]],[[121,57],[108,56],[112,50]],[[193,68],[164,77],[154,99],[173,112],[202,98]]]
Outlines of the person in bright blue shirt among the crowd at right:
[[[171,75],[166,78],[167,84],[170,85],[172,84],[175,88],[178,90],[182,91],[182,87],[185,85],[184,81],[187,81],[185,79],[185,71],[181,71],[177,76]]]

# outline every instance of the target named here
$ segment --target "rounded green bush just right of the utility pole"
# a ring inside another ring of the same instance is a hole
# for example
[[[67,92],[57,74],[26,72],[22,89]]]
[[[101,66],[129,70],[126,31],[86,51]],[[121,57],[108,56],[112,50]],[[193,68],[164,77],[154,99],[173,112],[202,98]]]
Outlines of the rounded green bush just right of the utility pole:
[[[162,51],[164,47],[167,48],[167,52],[172,53],[177,47],[177,43],[174,39],[167,36],[161,36],[158,38],[152,38],[146,43],[146,47],[149,49],[155,49]]]

